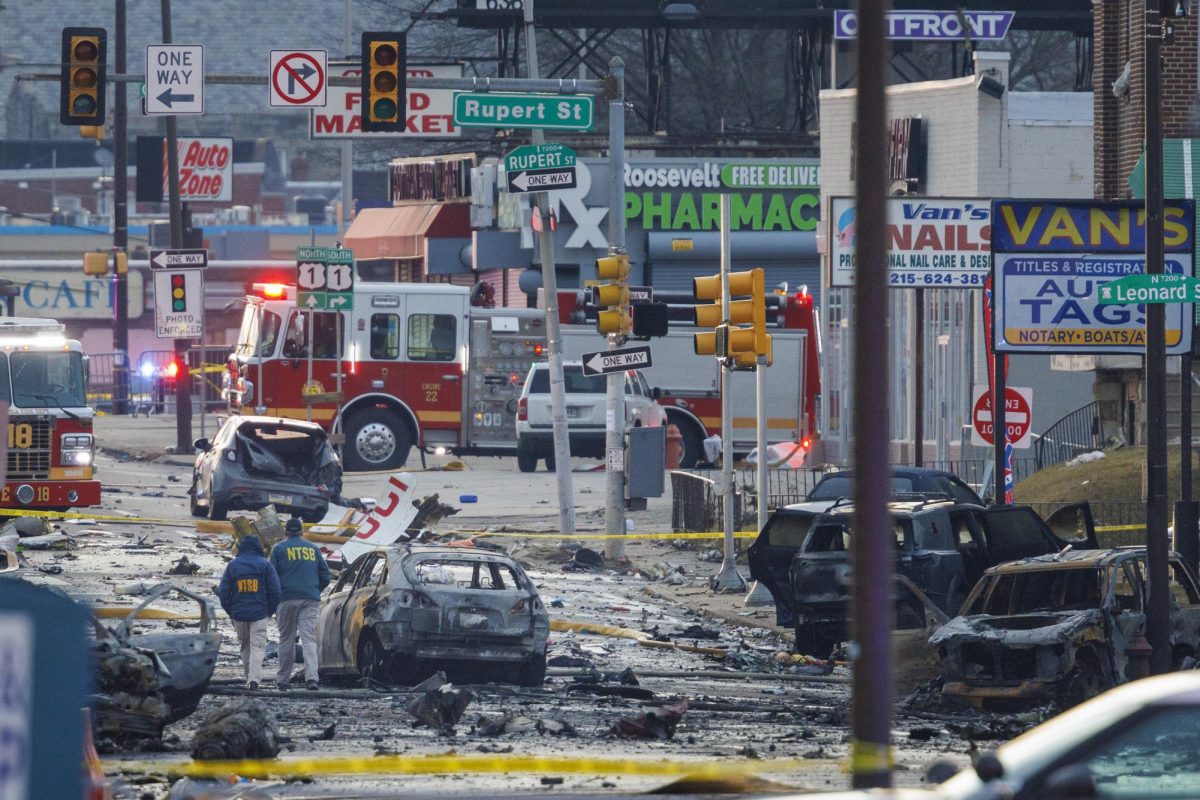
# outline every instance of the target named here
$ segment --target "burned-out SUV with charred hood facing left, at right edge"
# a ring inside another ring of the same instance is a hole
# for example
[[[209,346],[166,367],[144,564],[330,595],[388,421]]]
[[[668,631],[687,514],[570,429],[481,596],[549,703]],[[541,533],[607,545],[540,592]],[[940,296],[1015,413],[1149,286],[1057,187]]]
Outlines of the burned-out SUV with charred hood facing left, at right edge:
[[[1171,555],[1175,668],[1200,651],[1200,594]],[[942,693],[1074,705],[1135,678],[1145,632],[1146,548],[1069,551],[988,570],[956,616],[930,638]]]

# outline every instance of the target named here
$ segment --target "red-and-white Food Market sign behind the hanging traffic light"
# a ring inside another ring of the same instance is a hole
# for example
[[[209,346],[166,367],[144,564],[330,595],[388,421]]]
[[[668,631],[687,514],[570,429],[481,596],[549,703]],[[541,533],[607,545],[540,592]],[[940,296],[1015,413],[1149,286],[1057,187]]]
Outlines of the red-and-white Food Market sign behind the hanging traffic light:
[[[361,74],[358,65],[334,67],[334,74]],[[461,78],[461,65],[408,67],[409,78]],[[362,91],[358,86],[330,86],[329,103],[313,109],[310,133],[313,139],[370,139],[406,137],[416,139],[457,139],[462,130],[454,124],[454,90],[413,89],[408,86],[408,120],[403,133],[362,132]]]

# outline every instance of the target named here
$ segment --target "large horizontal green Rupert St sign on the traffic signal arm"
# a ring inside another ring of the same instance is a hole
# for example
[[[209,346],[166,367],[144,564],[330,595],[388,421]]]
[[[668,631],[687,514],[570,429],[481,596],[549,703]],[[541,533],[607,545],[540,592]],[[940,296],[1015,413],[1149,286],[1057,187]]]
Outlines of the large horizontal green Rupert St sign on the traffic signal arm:
[[[587,131],[595,103],[589,95],[455,92],[454,124],[485,128]]]

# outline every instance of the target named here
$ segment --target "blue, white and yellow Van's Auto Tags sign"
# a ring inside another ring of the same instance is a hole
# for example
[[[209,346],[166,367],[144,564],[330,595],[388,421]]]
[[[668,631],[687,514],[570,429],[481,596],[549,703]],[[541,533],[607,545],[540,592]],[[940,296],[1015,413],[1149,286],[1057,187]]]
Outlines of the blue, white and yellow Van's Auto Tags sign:
[[[1166,275],[1192,275],[1194,213],[1190,200],[1169,200],[1164,206]],[[992,223],[997,351],[1145,353],[1145,303],[1153,299],[1136,302],[1127,295],[1117,303],[1104,296],[1106,284],[1128,285],[1132,276],[1147,277],[1140,204],[995,200]],[[1116,294],[1115,289],[1109,291]],[[1170,302],[1165,313],[1168,354],[1187,353],[1192,306]]]

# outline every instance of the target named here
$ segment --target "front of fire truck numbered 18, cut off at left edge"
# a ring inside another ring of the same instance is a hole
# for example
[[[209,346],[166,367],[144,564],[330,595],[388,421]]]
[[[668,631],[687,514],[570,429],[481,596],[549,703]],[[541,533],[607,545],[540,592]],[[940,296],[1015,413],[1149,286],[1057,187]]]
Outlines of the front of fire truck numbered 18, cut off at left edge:
[[[88,356],[58,321],[0,318],[0,402],[8,407],[0,516],[100,504],[86,374]]]

